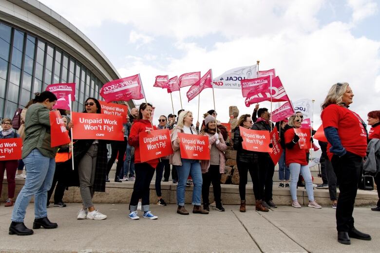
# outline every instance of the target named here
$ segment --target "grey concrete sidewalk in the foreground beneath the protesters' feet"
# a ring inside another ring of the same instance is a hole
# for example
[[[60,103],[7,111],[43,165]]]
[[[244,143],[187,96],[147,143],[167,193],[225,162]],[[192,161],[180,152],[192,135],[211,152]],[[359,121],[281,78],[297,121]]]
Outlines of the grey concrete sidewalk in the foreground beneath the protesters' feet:
[[[279,206],[268,213],[247,206],[225,205],[226,212],[181,216],[176,206],[151,206],[157,220],[128,218],[128,204],[96,204],[105,220],[77,220],[81,205],[50,207],[48,217],[58,223],[53,230],[34,235],[8,235],[12,208],[0,206],[0,252],[379,252],[380,212],[356,207],[356,227],[372,235],[372,241],[337,242],[335,210]],[[190,211],[191,205],[186,208]],[[140,214],[140,213],[139,213]],[[25,224],[32,228],[34,206],[27,209]]]

